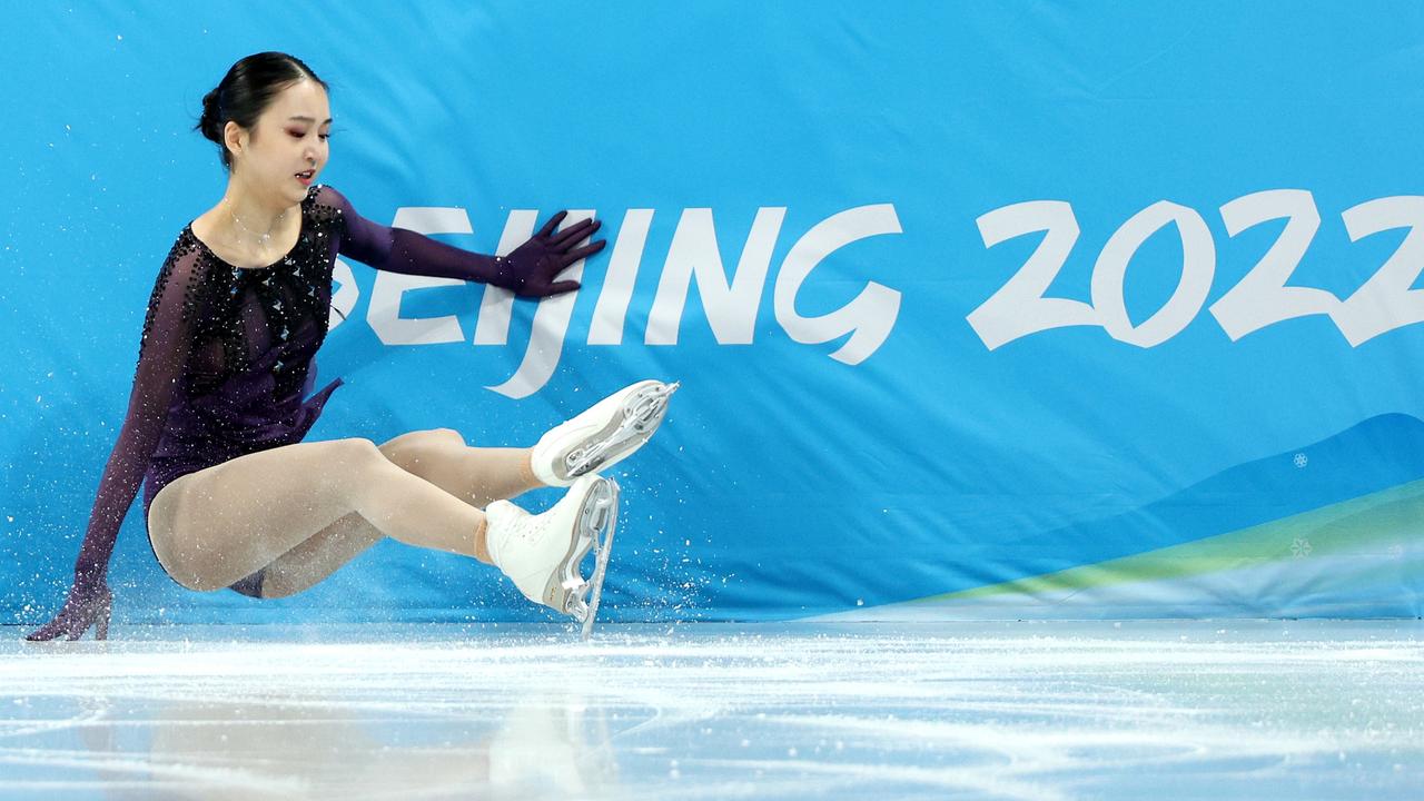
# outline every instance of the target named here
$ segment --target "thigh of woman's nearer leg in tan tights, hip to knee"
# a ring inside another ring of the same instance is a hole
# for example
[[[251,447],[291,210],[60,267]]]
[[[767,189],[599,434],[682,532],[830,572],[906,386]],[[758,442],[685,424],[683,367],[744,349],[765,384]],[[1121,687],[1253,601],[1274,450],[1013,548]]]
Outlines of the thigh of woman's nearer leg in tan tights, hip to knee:
[[[228,586],[350,513],[377,462],[376,445],[356,438],[272,448],[188,473],[154,497],[154,553],[181,583]]]

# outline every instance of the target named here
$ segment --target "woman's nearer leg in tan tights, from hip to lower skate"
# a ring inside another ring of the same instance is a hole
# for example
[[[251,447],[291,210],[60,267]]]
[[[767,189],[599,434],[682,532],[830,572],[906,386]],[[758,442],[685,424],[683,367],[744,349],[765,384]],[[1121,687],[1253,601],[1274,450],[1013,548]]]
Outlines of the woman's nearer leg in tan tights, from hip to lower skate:
[[[150,536],[184,586],[216,590],[357,513],[407,544],[477,556],[484,513],[367,439],[302,442],[189,473],[154,499]]]

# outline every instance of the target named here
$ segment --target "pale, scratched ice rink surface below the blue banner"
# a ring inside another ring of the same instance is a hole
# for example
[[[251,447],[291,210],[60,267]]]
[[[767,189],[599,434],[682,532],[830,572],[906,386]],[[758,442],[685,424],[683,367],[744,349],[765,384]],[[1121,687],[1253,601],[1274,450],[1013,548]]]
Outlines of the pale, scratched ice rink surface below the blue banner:
[[[1420,621],[131,627],[3,798],[1421,798]]]

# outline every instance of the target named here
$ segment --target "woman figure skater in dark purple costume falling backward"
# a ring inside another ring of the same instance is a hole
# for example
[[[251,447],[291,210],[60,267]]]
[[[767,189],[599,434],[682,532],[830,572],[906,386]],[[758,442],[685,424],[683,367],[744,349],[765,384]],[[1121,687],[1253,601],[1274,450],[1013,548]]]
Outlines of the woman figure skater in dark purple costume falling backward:
[[[184,587],[290,596],[389,536],[497,566],[530,600],[582,621],[587,636],[618,503],[617,485],[594,470],[646,442],[676,385],[635,383],[530,449],[468,448],[450,429],[382,445],[302,438],[340,385],[303,400],[337,254],[545,296],[578,288],[554,277],[602,249],[604,241],[575,248],[600,224],[555,232],[558,212],[496,258],[362,218],[315,182],[328,158],[328,90],[292,56],[238,61],[202,105],[198,130],[218,143],[228,188],[182,229],[158,274],[74,586],[28,639],[74,640],[91,624],[107,637],[105,574],[141,480],[154,554]],[[543,515],[504,500],[541,486],[570,489]],[[584,580],[591,549],[597,567]]]

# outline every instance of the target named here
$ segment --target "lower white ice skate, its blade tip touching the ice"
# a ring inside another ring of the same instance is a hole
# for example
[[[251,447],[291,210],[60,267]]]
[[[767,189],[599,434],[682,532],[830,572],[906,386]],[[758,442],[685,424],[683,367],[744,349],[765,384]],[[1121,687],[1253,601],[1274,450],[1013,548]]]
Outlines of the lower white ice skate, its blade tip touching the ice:
[[[608,549],[618,522],[618,482],[590,473],[543,515],[530,515],[508,500],[484,507],[486,546],[494,564],[524,597],[557,609],[594,629],[604,593]],[[594,552],[594,574],[584,579],[580,563]]]

